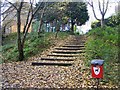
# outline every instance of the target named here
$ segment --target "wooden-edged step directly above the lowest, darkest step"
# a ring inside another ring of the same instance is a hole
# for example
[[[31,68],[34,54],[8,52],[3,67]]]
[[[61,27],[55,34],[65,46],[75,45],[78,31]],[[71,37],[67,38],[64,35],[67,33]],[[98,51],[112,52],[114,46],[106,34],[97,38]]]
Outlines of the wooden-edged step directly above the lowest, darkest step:
[[[75,58],[63,58],[63,57],[41,57],[41,60],[48,61],[74,61]]]

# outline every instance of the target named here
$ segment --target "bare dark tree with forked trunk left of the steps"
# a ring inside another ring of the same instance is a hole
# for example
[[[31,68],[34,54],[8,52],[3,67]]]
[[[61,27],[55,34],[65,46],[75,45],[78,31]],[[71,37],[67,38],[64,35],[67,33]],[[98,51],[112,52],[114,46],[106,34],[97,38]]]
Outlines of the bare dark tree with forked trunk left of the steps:
[[[36,12],[39,10],[40,5],[34,10],[33,8],[33,1],[34,0],[30,0],[30,7],[28,9],[28,13],[27,13],[27,19],[26,19],[26,24],[24,26],[24,32],[23,35],[21,35],[21,13],[22,13],[22,8],[24,5],[24,0],[21,0],[21,2],[16,2],[16,3],[12,3],[8,0],[5,0],[6,2],[8,2],[10,5],[12,5],[15,10],[16,10],[16,17],[17,17],[17,44],[18,44],[18,52],[19,52],[19,60],[22,61],[24,59],[24,43],[25,43],[25,39],[28,33],[28,30],[30,28],[30,25],[32,23],[33,17],[35,16]]]

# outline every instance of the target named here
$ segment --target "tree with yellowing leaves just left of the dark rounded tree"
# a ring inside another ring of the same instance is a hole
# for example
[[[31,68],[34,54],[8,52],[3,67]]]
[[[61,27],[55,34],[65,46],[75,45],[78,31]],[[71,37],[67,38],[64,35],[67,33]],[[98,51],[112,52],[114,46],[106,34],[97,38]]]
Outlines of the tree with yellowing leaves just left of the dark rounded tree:
[[[47,23],[51,23],[52,26],[55,26],[56,29],[56,35],[57,37],[58,32],[60,31],[61,24],[66,22],[65,18],[65,7],[66,2],[47,2],[46,3],[46,9],[43,7],[43,10],[39,10],[39,12],[36,13],[36,18],[44,23],[43,21],[46,21]],[[42,13],[44,11],[44,14]],[[41,18],[42,15],[42,18]]]

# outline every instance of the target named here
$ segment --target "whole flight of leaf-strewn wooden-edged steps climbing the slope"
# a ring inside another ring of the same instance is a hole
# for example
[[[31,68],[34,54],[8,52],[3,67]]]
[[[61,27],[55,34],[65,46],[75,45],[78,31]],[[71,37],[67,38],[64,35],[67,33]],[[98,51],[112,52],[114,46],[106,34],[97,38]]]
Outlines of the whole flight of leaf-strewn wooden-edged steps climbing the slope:
[[[41,57],[39,62],[32,62],[32,65],[71,66],[80,53],[84,53],[83,37],[74,36],[71,41],[66,41],[65,45],[55,47],[46,57]]]

